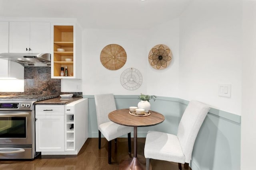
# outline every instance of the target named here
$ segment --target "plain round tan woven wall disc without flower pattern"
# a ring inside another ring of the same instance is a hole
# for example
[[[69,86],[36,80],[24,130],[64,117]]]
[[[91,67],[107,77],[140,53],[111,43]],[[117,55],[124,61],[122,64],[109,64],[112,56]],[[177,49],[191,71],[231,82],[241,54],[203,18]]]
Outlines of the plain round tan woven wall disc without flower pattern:
[[[126,52],[120,45],[110,44],[100,53],[100,62],[108,70],[118,70],[126,63]]]

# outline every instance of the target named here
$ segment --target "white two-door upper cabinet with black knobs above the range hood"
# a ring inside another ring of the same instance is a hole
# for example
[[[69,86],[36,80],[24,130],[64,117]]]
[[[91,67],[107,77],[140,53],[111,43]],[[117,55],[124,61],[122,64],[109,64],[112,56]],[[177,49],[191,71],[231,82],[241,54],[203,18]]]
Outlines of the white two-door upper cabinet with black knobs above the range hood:
[[[50,53],[50,23],[10,22],[10,53]]]

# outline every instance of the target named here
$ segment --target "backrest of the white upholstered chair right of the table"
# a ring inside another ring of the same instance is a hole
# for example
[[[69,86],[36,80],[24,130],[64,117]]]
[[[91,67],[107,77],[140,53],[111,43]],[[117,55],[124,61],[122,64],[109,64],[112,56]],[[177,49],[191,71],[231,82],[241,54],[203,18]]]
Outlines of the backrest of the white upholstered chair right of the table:
[[[191,160],[196,136],[209,109],[205,104],[192,100],[182,115],[177,136],[187,163]]]

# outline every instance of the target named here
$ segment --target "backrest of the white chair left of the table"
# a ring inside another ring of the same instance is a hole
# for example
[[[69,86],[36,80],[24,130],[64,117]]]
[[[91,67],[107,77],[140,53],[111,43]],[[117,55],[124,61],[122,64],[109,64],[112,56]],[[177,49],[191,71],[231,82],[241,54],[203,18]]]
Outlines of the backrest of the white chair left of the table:
[[[100,124],[110,121],[110,119],[108,119],[108,113],[116,110],[116,102],[113,94],[98,94],[94,95],[94,98],[99,128]]]

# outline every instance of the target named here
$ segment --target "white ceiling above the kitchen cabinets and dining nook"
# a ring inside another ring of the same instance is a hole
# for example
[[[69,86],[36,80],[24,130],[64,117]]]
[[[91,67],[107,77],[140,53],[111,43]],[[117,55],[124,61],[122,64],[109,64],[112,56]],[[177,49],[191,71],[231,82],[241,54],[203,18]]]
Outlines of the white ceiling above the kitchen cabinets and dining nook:
[[[148,29],[177,18],[191,0],[0,0],[0,17],[77,18],[84,28]]]

